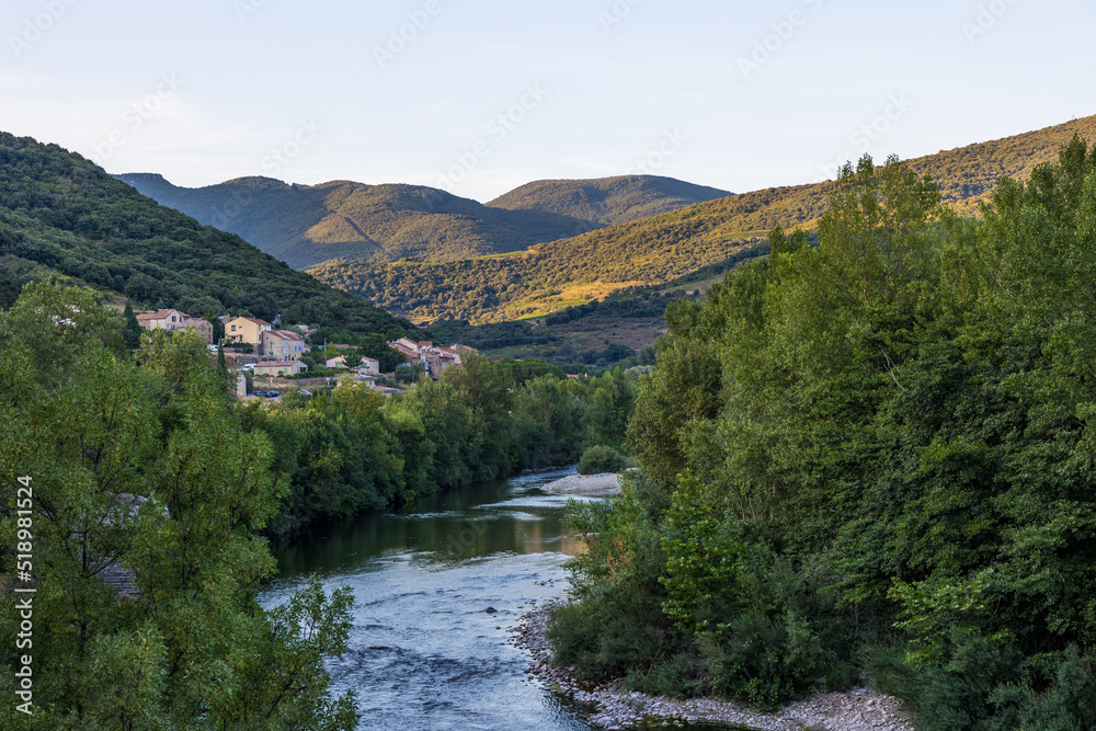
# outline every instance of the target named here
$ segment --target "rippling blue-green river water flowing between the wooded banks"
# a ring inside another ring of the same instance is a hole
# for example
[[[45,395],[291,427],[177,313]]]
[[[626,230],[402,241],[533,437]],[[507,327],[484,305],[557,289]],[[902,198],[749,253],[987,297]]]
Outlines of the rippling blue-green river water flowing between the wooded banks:
[[[362,729],[589,729],[587,709],[524,674],[506,642],[523,610],[566,589],[567,498],[523,476],[439,495],[404,514],[362,515],[276,551],[260,596],[279,604],[316,573],[354,591],[350,650],[329,663],[353,689]],[[493,607],[495,613],[484,609]]]

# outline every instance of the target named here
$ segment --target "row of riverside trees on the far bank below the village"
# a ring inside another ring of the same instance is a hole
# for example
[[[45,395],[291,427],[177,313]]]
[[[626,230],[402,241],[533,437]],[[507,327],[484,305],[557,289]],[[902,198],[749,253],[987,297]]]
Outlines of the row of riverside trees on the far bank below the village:
[[[549,366],[473,357],[441,381],[386,399],[342,385],[310,399],[241,409],[243,429],[276,446],[284,495],[267,532],[409,504],[523,469],[573,462],[587,439],[617,439],[635,386],[623,373],[570,380]]]

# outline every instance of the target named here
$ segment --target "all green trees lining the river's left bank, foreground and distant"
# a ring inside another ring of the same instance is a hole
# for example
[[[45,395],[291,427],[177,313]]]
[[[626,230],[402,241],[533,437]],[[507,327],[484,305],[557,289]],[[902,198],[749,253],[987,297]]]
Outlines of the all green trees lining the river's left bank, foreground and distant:
[[[4,731],[356,728],[324,665],[353,594],[260,607],[269,539],[619,447],[636,402],[619,369],[471,357],[395,398],[242,404],[198,334],[129,339],[100,300],[0,305],[0,633],[30,638],[0,643]]]

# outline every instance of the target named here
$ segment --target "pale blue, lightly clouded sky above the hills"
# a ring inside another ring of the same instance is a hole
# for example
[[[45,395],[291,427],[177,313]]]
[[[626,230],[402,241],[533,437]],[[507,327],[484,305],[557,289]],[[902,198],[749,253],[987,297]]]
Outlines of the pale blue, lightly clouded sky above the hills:
[[[1096,114],[1071,0],[4,0],[0,130],[197,187],[726,191]]]

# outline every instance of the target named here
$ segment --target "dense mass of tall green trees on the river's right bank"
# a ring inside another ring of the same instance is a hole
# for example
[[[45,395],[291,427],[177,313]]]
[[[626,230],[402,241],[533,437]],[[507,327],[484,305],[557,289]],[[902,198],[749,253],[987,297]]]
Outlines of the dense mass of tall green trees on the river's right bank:
[[[869,159],[811,245],[666,313],[629,446],[576,506],[556,660],[774,708],[861,673],[917,728],[1096,728],[1096,148],[979,219]]]

